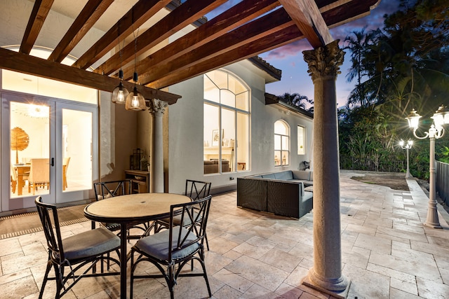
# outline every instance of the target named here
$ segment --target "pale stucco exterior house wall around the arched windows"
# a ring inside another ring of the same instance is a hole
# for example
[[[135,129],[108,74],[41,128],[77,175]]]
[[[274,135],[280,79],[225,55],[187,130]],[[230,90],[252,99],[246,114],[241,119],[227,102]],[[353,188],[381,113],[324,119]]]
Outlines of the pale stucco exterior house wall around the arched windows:
[[[225,67],[241,78],[251,90],[250,170],[225,174],[203,174],[203,76],[170,86],[169,92],[182,98],[168,109],[168,163],[170,193],[183,193],[186,179],[212,182],[212,193],[236,188],[236,178],[262,172],[298,169],[310,160],[312,120],[297,113],[287,113],[278,105],[265,105],[265,81],[247,60]],[[274,123],[285,120],[290,126],[290,165],[274,166]],[[306,127],[306,155],[297,155],[297,125]]]

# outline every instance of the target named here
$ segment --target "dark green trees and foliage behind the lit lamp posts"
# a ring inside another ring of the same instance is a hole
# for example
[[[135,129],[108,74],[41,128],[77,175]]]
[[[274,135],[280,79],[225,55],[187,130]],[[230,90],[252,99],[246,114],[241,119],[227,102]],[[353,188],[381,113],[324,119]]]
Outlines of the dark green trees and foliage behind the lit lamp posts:
[[[404,119],[408,113],[416,109],[422,114],[427,130],[438,106],[449,102],[448,1],[401,0],[400,9],[386,15],[382,29],[365,30],[344,41],[351,55],[347,80],[356,84],[339,113],[340,155],[373,161],[401,158],[396,141],[413,138]],[[411,170],[418,176],[429,171],[425,141],[414,144],[419,151]],[[447,144],[447,135],[436,142],[437,158],[446,159]]]

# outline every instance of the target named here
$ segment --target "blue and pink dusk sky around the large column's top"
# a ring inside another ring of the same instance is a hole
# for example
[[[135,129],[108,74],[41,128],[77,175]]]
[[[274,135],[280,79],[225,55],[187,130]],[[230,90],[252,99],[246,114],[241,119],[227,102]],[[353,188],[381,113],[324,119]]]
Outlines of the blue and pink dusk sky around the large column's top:
[[[362,0],[363,1],[363,0]],[[237,2],[237,1],[236,1]],[[363,26],[368,26],[366,32],[372,29],[382,27],[385,13],[393,13],[398,9],[398,0],[382,0],[377,8],[374,8],[370,15],[364,18],[349,22],[340,27],[330,29],[330,34],[334,39],[340,39],[340,48],[343,46],[344,38],[354,30],[360,30]],[[259,56],[266,60],[273,67],[282,70],[281,81],[269,83],[266,85],[267,92],[273,95],[283,95],[285,92],[297,92],[300,95],[305,95],[309,99],[314,98],[314,87],[311,77],[307,73],[307,64],[304,62],[302,55],[303,50],[311,50],[311,46],[306,39],[290,43],[271,50],[267,53],[262,53]],[[344,63],[340,67],[342,74],[337,77],[337,106],[344,106],[347,102],[349,92],[354,89],[354,82],[347,83],[346,74],[351,66],[350,53],[346,51],[344,55]]]

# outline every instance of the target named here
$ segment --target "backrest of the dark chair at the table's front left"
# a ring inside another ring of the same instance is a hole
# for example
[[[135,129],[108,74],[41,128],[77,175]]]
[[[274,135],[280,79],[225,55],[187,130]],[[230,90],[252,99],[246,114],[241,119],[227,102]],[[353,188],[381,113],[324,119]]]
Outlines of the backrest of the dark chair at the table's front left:
[[[46,204],[42,202],[42,197],[40,196],[36,197],[36,200],[34,200],[34,202],[36,203],[39,218],[41,218],[42,228],[47,239],[47,246],[51,258],[53,260],[65,260],[64,249],[62,249],[62,237],[56,206],[54,204]],[[53,217],[48,211],[51,211]]]

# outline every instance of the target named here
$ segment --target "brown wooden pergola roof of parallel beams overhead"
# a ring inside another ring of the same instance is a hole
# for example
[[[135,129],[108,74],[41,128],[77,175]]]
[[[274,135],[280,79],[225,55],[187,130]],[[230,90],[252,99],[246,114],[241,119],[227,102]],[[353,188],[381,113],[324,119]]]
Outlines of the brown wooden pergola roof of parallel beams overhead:
[[[91,41],[93,46],[79,55],[72,67],[62,65],[60,62],[79,48],[76,45],[88,36],[88,31],[100,17],[109,9],[118,8],[114,6],[117,3],[114,0],[86,2],[82,11],[72,9],[72,15],[77,16],[72,26],[48,60],[41,60],[29,56],[29,51],[39,34],[46,34],[41,28],[55,4],[53,0],[36,0],[20,53],[0,49],[0,67],[109,92],[119,83],[119,79],[114,78],[116,71],[124,67],[123,85],[127,88],[133,88],[133,83],[128,80],[137,71],[139,82],[147,86],[138,85],[144,97],[174,103],[180,96],[156,89],[299,39],[306,38],[313,48],[324,46],[333,41],[329,28],[361,18],[380,0],[242,0],[235,5],[229,0],[187,0],[182,3],[177,0],[139,0],[129,11],[119,14],[119,20],[108,25],[110,29],[100,39]],[[231,5],[225,7],[222,4]],[[215,18],[202,18],[219,6],[222,11]],[[150,19],[151,25],[147,22]],[[142,25],[145,30],[142,29],[138,36],[137,45],[133,41],[123,48],[117,47],[119,43],[124,45],[125,41],[133,39],[133,34]],[[180,34],[189,25],[196,28],[190,27],[190,32],[186,30],[188,33]],[[144,57],[147,52],[152,54]],[[140,61],[126,66],[137,58]],[[98,66],[100,61],[102,64]],[[94,72],[86,71],[92,67]]]

